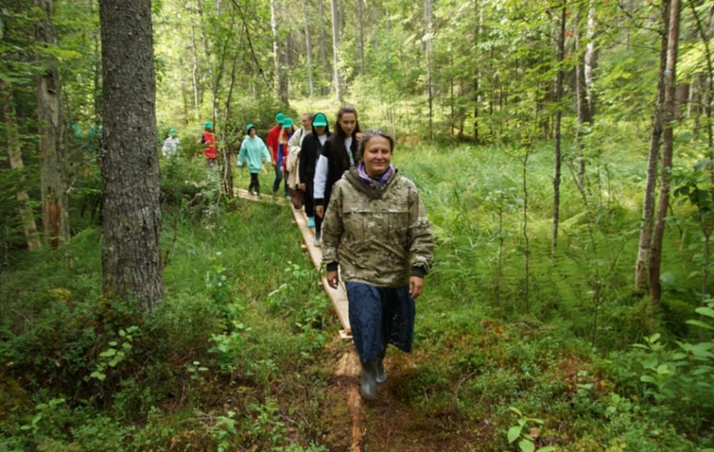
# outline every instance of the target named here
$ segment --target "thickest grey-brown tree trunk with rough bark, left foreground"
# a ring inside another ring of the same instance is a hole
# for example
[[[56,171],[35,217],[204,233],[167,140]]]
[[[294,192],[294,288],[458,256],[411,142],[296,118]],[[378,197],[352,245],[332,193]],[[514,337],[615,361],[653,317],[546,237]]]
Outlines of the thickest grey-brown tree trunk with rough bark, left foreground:
[[[151,309],[163,296],[151,1],[99,0],[104,74],[104,293]]]

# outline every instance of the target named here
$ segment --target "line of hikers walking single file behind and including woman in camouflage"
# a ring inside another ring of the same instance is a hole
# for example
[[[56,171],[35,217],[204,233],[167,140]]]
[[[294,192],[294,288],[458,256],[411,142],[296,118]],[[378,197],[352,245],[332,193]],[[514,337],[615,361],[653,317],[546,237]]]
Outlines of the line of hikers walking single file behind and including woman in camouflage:
[[[201,141],[209,165],[216,144],[211,123]],[[362,373],[360,392],[377,396],[386,381],[387,345],[410,352],[416,303],[433,263],[433,234],[415,184],[391,163],[394,140],[383,131],[361,131],[357,111],[343,105],[331,132],[327,116],[306,113],[301,127],[276,115],[267,145],[253,124],[238,152],[248,166],[248,191],[260,194],[263,162],[275,171],[272,191],[302,197],[314,244],[322,247],[328,285],[345,281],[348,316]],[[171,138],[171,135],[169,136]],[[294,205],[295,203],[293,203]]]

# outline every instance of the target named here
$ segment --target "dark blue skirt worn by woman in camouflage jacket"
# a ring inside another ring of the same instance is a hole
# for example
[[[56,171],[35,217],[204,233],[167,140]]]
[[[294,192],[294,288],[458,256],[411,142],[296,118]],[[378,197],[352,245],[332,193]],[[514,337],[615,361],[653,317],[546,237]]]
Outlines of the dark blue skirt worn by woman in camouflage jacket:
[[[360,361],[377,358],[387,344],[410,352],[416,307],[409,286],[378,288],[345,283],[352,338]]]

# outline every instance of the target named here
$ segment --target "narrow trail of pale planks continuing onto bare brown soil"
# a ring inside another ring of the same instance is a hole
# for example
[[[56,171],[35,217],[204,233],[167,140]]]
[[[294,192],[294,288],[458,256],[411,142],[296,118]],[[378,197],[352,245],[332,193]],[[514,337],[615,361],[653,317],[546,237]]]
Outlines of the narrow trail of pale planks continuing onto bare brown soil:
[[[320,267],[321,248],[313,246],[313,231],[307,226],[303,210],[294,209],[283,196],[263,195],[260,198],[243,189],[234,190],[241,199],[254,202],[289,205],[293,219],[303,237],[303,251]],[[328,286],[321,277],[323,288],[343,324],[340,337],[334,342],[351,341],[347,316],[347,297],[343,283],[337,289]],[[359,392],[361,368],[359,358],[352,346],[336,354],[332,368],[331,383],[321,408],[323,425],[322,442],[331,451],[350,452],[431,452],[473,451],[476,443],[491,440],[493,426],[483,420],[463,429],[464,419],[453,411],[423,412],[414,403],[418,397],[429,397],[432,388],[421,386],[417,381],[418,363],[426,359],[419,351],[413,353],[387,353],[385,368],[386,383],[379,386],[378,397],[365,401]]]

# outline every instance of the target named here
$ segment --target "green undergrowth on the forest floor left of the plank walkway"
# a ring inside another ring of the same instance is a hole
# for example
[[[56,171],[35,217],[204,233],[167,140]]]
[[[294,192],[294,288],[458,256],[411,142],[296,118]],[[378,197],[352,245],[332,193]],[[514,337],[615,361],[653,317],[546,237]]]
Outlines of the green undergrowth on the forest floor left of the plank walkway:
[[[181,179],[164,181],[153,312],[101,296],[96,226],[4,273],[0,450],[326,450],[318,407],[339,327],[291,214],[216,208],[215,174],[175,170],[205,179],[172,196]]]

